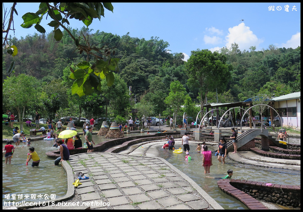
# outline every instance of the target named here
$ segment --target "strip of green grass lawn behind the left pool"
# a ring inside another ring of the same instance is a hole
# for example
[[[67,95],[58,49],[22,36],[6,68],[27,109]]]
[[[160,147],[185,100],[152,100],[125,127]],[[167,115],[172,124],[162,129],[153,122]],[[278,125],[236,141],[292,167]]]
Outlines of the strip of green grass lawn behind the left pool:
[[[55,126],[55,124],[53,124],[53,126]],[[20,129],[20,124],[19,122],[14,122],[14,128],[18,127]],[[47,124],[39,124],[39,128],[41,127],[45,127],[45,129],[47,129]],[[29,130],[30,129],[37,129],[36,127],[28,127],[25,125],[25,122],[23,123],[23,132],[25,133],[25,137],[29,136]],[[63,127],[62,130],[65,130],[66,125]],[[82,128],[76,127],[77,128],[77,132],[83,132]],[[56,129],[55,129],[56,130]],[[13,137],[13,128],[9,127],[8,125],[2,125],[2,139],[6,138],[6,139],[12,139]]]

